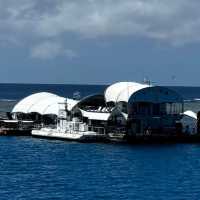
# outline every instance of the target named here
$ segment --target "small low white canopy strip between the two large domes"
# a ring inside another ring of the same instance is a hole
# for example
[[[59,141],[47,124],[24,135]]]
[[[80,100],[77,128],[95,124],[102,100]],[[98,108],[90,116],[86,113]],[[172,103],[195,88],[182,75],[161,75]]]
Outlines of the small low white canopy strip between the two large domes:
[[[110,117],[110,113],[87,112],[84,110],[81,110],[81,113],[84,117],[87,117],[88,119],[92,120],[107,121]]]

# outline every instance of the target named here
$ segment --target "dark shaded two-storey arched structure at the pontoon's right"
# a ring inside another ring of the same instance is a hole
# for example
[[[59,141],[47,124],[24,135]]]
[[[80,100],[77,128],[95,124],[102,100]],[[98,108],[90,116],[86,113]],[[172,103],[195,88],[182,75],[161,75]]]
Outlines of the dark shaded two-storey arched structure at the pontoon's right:
[[[128,132],[133,135],[175,134],[183,106],[182,97],[166,87],[141,89],[128,101]]]

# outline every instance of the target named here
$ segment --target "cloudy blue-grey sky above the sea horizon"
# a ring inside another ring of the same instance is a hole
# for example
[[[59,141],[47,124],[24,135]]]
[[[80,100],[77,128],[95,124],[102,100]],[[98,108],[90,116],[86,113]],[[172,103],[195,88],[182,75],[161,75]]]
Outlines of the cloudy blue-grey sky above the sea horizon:
[[[0,0],[0,82],[200,86],[199,0]]]

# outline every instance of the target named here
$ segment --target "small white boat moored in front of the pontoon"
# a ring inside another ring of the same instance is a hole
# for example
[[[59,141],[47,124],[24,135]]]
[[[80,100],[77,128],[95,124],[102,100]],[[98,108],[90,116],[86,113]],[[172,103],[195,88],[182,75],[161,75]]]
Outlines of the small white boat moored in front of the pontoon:
[[[56,128],[41,128],[32,130],[34,137],[47,137],[79,142],[96,142],[106,140],[105,134],[89,131],[88,125],[83,122],[65,121],[62,126]]]

